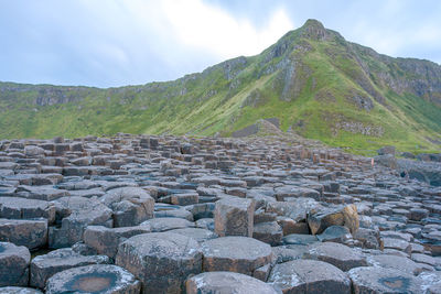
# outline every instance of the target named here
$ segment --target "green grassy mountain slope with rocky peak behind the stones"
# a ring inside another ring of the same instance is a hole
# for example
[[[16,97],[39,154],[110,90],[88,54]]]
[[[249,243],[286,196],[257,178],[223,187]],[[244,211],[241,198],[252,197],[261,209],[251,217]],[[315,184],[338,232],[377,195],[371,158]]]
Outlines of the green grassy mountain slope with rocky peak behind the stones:
[[[252,57],[174,81],[98,89],[0,83],[0,139],[230,135],[265,118],[349,151],[439,150],[441,67],[391,58],[310,20]]]

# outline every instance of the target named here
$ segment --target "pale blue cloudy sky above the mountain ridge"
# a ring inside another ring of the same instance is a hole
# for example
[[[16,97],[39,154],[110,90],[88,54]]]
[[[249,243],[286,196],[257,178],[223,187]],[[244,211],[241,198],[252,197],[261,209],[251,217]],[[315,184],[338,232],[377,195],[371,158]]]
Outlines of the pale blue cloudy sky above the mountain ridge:
[[[255,55],[306,19],[441,64],[438,0],[0,0],[0,80],[111,87]]]

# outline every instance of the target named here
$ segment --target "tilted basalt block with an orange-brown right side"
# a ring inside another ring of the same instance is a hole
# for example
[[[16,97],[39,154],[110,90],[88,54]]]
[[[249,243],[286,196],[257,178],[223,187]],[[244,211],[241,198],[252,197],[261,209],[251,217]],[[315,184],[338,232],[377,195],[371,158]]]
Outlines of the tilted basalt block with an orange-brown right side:
[[[352,204],[322,209],[308,216],[308,225],[313,235],[321,233],[331,226],[345,226],[355,233],[359,227],[357,207]]]

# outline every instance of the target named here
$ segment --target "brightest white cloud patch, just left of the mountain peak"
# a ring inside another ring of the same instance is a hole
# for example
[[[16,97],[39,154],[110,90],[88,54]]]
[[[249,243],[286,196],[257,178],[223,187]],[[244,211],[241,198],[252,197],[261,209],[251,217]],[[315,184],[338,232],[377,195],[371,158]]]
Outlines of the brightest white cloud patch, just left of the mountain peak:
[[[183,44],[223,58],[258,54],[293,29],[282,9],[275,10],[267,25],[258,30],[249,20],[236,19],[201,0],[165,0],[161,8]]]

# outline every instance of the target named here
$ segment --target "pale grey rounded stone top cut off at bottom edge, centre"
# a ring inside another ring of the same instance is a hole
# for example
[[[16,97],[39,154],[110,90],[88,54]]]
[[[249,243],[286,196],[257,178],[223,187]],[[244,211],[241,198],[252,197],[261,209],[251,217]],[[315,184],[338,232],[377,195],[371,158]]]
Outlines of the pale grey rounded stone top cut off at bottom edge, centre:
[[[277,294],[280,291],[255,277],[234,272],[207,272],[189,279],[187,294],[243,293]]]

